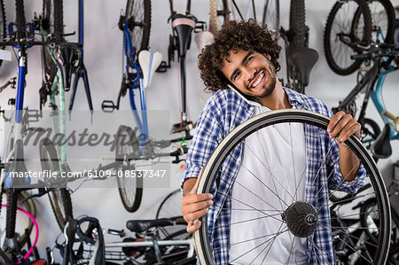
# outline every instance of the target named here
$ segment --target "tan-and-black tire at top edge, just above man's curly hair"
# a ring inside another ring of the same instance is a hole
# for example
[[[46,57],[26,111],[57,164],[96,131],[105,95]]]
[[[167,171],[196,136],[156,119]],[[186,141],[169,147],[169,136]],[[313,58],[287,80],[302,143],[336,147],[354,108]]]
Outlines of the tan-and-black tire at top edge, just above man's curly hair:
[[[228,0],[209,0],[209,31],[218,32],[230,20],[230,13]]]

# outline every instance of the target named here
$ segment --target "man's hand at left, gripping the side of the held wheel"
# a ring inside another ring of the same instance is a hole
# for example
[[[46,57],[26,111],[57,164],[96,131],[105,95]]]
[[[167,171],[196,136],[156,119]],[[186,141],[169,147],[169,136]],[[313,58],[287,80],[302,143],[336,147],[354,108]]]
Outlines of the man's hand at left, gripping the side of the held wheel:
[[[198,183],[202,175],[203,168],[201,168],[200,175],[197,178],[190,178],[184,182],[184,198],[182,199],[182,212],[185,222],[187,222],[187,232],[192,233],[200,229],[201,216],[207,214],[209,207],[212,206],[212,194],[201,193],[197,194]]]

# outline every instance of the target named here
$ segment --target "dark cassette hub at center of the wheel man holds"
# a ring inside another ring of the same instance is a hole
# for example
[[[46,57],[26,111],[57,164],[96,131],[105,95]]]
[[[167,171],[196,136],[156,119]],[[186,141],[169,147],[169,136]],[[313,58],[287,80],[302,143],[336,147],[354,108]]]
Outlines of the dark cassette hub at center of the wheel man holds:
[[[294,202],[281,217],[293,235],[299,238],[308,238],[317,227],[316,209],[307,202]]]

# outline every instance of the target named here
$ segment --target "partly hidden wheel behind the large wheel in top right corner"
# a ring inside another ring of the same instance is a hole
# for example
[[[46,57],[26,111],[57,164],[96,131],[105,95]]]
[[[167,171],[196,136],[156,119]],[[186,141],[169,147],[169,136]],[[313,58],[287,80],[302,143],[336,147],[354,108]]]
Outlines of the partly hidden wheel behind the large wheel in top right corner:
[[[372,15],[372,43],[394,43],[395,9],[389,0],[366,0]],[[362,11],[356,10],[354,21],[359,21]]]

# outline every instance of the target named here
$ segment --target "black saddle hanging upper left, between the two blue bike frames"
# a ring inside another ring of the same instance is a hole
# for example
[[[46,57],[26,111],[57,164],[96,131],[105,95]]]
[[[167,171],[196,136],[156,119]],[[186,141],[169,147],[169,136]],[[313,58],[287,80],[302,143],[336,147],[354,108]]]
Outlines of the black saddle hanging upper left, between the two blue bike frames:
[[[54,57],[62,69],[64,90],[71,89],[71,78],[74,64],[81,58],[81,49],[76,43],[60,43],[54,50]]]

